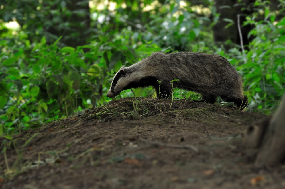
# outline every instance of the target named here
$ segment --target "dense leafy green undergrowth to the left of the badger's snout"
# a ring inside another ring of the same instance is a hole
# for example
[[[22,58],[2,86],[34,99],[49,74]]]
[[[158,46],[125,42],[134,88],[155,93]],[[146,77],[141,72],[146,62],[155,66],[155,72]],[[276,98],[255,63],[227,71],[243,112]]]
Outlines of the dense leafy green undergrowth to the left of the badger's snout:
[[[7,53],[10,49],[2,51],[2,133],[20,132],[33,122],[40,125],[109,100],[101,98],[110,86],[109,75],[136,56],[135,50],[122,44],[122,40],[108,41],[112,37],[76,49],[58,47],[61,37],[50,45],[43,37],[28,54],[21,48],[15,53]]]

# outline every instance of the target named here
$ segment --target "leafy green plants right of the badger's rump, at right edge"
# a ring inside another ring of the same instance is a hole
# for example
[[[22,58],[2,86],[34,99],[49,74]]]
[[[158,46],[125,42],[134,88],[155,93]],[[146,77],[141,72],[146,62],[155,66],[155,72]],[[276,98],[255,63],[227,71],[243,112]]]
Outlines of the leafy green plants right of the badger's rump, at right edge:
[[[260,5],[260,4],[257,4]],[[285,87],[285,19],[275,21],[276,14],[265,9],[265,19],[256,21],[255,16],[248,16],[246,24],[255,28],[249,35],[254,36],[249,51],[244,53],[232,49],[235,58],[231,62],[244,76],[245,89],[252,99],[251,109],[259,109],[270,113],[276,109]]]

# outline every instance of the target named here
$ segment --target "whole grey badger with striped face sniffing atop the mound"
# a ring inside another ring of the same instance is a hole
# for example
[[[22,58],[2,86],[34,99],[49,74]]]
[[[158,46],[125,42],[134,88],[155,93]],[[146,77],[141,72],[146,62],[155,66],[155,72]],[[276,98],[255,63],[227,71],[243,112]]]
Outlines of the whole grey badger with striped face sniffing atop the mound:
[[[201,93],[200,102],[214,104],[220,96],[240,109],[247,105],[237,70],[224,57],[201,52],[155,52],[129,67],[123,66],[106,96],[113,98],[126,89],[152,86],[157,96],[168,98],[173,79],[179,79],[173,82],[174,88]]]

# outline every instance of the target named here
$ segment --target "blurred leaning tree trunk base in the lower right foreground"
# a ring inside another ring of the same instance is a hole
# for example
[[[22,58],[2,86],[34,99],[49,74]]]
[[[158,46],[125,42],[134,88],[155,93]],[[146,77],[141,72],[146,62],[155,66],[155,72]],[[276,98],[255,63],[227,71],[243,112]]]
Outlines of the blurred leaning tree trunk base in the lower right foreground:
[[[262,121],[248,128],[245,144],[259,148],[257,167],[276,166],[285,159],[285,95],[270,122]]]

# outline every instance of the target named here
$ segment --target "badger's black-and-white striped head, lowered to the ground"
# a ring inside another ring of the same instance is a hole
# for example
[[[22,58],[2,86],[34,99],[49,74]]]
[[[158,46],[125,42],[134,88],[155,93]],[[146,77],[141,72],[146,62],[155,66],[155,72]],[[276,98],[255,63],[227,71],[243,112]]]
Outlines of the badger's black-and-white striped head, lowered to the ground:
[[[106,96],[109,98],[113,98],[119,95],[121,91],[125,90],[125,87],[128,85],[128,83],[129,81],[127,73],[124,70],[124,67],[121,67],[121,69],[115,74],[111,83],[111,87]]]

